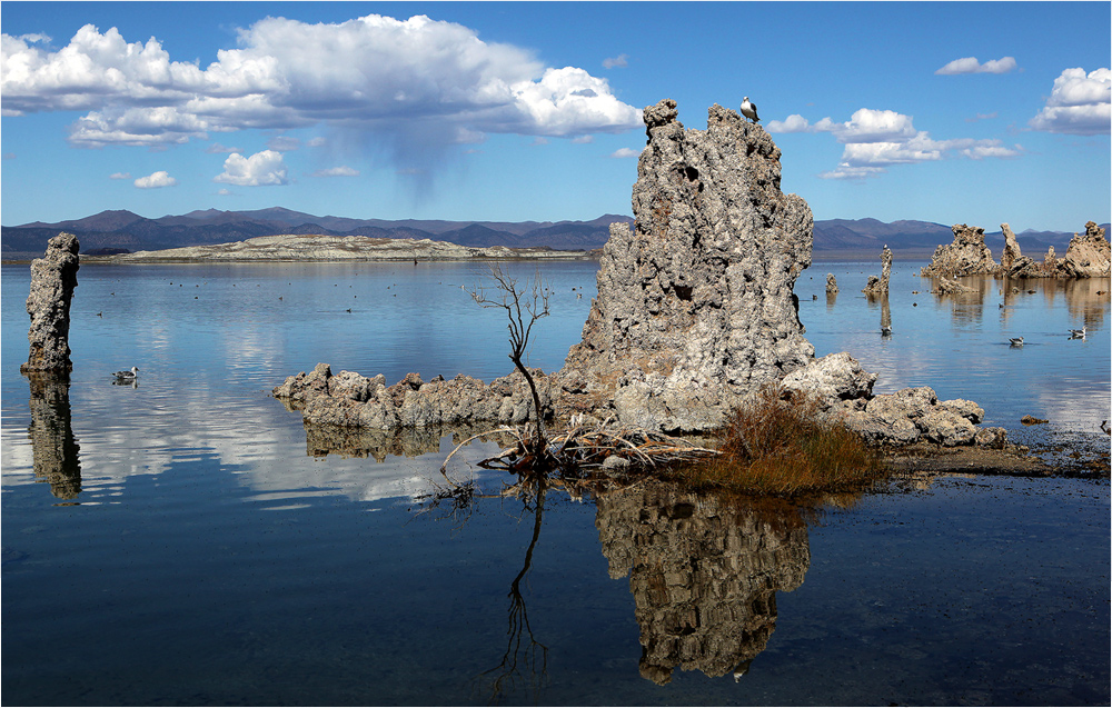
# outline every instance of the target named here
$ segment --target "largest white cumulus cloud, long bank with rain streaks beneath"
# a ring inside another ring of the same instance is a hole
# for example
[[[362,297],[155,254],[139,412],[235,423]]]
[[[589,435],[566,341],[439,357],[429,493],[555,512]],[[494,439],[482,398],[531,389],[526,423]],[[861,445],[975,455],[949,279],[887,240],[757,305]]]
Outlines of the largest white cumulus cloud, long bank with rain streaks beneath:
[[[205,68],[171,59],[156,38],[128,42],[92,24],[58,51],[3,34],[0,52],[4,114],[87,111],[70,131],[83,147],[329,123],[391,136],[403,154],[427,151],[420,146],[434,138],[576,137],[642,124],[605,79],[545,67],[528,50],[425,16],[315,24],[268,17],[240,29],[238,47]]]

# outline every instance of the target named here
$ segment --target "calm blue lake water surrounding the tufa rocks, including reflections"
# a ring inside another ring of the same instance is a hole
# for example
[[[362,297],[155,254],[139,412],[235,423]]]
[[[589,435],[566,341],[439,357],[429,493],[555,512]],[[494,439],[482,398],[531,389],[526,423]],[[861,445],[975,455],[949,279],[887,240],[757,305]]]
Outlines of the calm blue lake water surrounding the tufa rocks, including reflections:
[[[860,295],[878,261],[804,271],[816,353],[850,351],[876,392],[975,400],[1013,440],[1106,449],[1109,280],[939,298],[922,265],[896,262],[886,302]],[[83,266],[67,389],[19,373],[29,270],[3,266],[2,701],[1109,705],[1106,479],[940,477],[802,512],[644,485],[416,513],[453,431],[320,439],[269,397],[319,361],[508,373],[505,322],[460,290],[485,268]],[[597,263],[540,268],[556,297],[530,363],[554,370]],[[497,492],[473,467],[494,450],[455,473]]]

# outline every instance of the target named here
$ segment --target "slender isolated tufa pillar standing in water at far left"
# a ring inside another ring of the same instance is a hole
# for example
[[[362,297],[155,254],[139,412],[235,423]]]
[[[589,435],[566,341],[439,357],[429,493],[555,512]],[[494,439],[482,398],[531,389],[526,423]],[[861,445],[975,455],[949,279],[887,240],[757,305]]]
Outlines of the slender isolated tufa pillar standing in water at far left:
[[[31,261],[31,292],[27,297],[31,351],[27,363],[19,368],[21,372],[68,373],[73,369],[69,358],[69,306],[81,267],[79,248],[76,236],[59,233],[47,242],[46,256]]]

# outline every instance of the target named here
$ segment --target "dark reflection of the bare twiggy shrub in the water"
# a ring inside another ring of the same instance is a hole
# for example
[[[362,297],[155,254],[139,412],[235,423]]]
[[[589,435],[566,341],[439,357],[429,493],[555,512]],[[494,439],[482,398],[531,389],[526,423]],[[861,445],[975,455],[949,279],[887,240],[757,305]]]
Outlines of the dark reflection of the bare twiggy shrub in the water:
[[[539,698],[540,689],[548,681],[548,647],[537,641],[533,635],[529,615],[525,607],[525,597],[522,595],[522,580],[525,579],[533,566],[533,550],[540,538],[546,491],[542,481],[536,489],[534,500],[533,540],[529,542],[528,550],[525,551],[525,565],[522,567],[522,571],[509,584],[509,628],[506,630],[508,637],[506,652],[502,656],[498,666],[479,675],[479,677],[490,677],[490,702],[496,702],[505,691],[512,690],[519,679],[525,679]],[[528,635],[527,641],[525,640],[526,635]],[[524,647],[523,641],[525,641]]]

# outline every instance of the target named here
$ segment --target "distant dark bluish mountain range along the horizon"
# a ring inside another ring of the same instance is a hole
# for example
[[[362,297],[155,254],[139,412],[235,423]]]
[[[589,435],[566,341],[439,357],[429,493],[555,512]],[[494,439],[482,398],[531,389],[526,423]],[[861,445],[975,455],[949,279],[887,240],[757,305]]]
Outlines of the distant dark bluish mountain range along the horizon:
[[[433,239],[460,246],[510,248],[548,247],[556,250],[600,248],[614,221],[633,222],[632,217],[605,215],[590,221],[440,221],[406,219],[349,219],[316,217],[275,207],[254,211],[208,209],[181,216],[147,219],[130,211],[102,211],[91,217],[58,223],[34,221],[0,228],[0,257],[24,259],[41,256],[47,239],[59,231],[77,235],[83,253],[160,250],[242,241],[257,236],[320,233],[368,236],[388,239]],[[1108,225],[1104,225],[1108,228]],[[1083,228],[1079,226],[1079,230]],[[1069,246],[1073,232],[1024,231],[1017,235],[1024,253],[1040,257],[1050,246],[1059,252]],[[815,221],[816,257],[877,255],[885,245],[903,255],[930,256],[935,247],[950,243],[949,226],[930,221],[876,219],[828,219]],[[1001,232],[987,233],[985,242],[994,253],[1003,249]],[[997,256],[999,258],[999,256]]]

